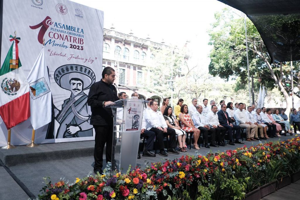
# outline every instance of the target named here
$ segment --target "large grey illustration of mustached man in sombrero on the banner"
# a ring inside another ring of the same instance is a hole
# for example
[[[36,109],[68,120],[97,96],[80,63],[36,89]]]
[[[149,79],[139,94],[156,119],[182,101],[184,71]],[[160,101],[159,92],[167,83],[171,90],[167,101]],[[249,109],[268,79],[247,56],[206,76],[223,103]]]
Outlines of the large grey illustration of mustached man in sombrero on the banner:
[[[59,127],[55,138],[75,138],[93,136],[93,126],[90,125],[91,109],[83,91],[95,83],[94,72],[83,65],[63,65],[54,72],[55,82],[72,93],[64,100],[61,110],[55,116]]]

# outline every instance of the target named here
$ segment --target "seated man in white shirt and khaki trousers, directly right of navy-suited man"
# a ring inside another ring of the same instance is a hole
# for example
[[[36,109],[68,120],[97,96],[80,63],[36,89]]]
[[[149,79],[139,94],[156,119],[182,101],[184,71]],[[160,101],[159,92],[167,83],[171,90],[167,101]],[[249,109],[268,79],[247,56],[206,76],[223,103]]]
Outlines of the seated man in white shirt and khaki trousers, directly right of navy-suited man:
[[[244,110],[244,104],[239,103],[238,109],[236,109],[236,111],[234,112],[234,119],[236,125],[246,129],[247,141],[255,140],[254,135],[255,132],[257,132],[257,126],[248,121],[245,112],[243,110]]]

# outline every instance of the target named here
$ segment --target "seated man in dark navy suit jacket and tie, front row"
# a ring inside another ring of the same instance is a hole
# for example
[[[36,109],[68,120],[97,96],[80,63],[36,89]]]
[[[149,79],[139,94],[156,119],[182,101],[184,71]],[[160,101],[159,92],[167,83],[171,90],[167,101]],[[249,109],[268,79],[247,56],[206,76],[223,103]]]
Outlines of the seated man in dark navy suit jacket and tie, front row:
[[[238,140],[238,138],[241,137],[241,127],[238,125],[232,124],[232,121],[231,121],[230,117],[228,116],[228,113],[226,112],[225,104],[221,105],[221,110],[218,111],[217,114],[218,114],[220,124],[227,129],[228,137],[229,137],[229,144],[230,145],[234,145],[234,143],[244,144],[244,142],[241,142]],[[235,142],[233,142],[232,130],[236,131]]]

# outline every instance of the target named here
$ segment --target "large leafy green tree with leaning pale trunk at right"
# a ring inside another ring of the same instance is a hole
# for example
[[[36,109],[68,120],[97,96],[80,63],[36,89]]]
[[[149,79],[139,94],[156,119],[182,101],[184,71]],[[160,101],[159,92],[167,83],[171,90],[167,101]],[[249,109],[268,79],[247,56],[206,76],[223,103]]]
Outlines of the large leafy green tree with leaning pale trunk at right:
[[[226,80],[239,77],[238,87],[241,88],[248,83],[244,18],[234,16],[229,9],[224,9],[215,14],[215,19],[217,22],[212,24],[209,31],[209,44],[213,45],[209,73]],[[249,19],[246,24],[250,76],[258,78],[260,83],[270,90],[277,87],[284,96],[289,111],[289,87],[286,85],[286,82],[290,81],[289,63],[270,63],[271,59],[256,27]],[[294,66],[297,72],[295,74],[298,74],[298,63]],[[299,94],[296,95],[300,97]]]

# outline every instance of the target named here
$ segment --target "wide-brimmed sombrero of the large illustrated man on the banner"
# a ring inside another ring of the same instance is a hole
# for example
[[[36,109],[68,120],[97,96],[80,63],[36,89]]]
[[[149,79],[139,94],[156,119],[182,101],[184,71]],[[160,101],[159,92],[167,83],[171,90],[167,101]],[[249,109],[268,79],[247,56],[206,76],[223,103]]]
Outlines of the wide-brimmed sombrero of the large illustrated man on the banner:
[[[79,78],[83,81],[83,90],[89,89],[96,81],[95,73],[83,65],[62,65],[54,72],[55,82],[64,89],[70,90],[72,78]]]

